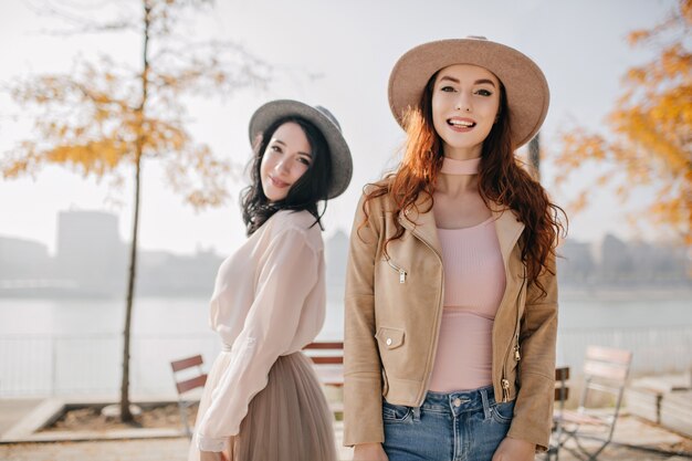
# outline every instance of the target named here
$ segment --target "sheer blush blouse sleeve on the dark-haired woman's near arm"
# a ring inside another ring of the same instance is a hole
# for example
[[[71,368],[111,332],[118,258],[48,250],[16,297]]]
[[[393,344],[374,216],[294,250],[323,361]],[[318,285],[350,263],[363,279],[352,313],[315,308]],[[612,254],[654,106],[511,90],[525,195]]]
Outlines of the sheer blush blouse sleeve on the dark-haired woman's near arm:
[[[268,383],[269,371],[291,347],[306,297],[318,283],[319,254],[306,231],[281,230],[260,260],[255,297],[211,404],[197,430],[197,447],[222,451],[240,431],[250,400]]]

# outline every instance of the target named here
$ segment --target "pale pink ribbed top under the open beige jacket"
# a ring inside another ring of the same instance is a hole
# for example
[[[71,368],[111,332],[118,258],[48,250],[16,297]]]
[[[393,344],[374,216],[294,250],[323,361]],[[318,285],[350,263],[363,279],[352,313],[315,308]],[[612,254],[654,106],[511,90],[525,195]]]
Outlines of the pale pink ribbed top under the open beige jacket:
[[[444,310],[430,390],[492,384],[492,332],[505,289],[492,218],[464,229],[438,229],[444,265]]]

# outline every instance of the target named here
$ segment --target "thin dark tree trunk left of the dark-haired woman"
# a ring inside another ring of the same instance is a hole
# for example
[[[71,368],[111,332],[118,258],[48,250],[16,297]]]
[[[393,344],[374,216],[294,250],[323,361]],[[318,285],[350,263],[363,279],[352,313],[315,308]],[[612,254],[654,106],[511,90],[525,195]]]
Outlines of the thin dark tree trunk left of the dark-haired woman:
[[[141,156],[144,151],[144,121],[145,106],[147,103],[148,88],[148,49],[149,49],[149,21],[151,7],[149,0],[143,0],[144,4],[144,69],[141,72],[141,102],[138,107],[139,113],[139,134],[135,145],[135,213],[133,219],[133,243],[129,252],[129,275],[127,281],[127,305],[125,308],[125,329],[123,332],[123,380],[120,383],[120,420],[123,422],[133,421],[133,415],[129,411],[129,343],[130,326],[133,316],[133,301],[135,294],[135,275],[137,270],[137,231],[139,229],[139,190],[141,180]]]

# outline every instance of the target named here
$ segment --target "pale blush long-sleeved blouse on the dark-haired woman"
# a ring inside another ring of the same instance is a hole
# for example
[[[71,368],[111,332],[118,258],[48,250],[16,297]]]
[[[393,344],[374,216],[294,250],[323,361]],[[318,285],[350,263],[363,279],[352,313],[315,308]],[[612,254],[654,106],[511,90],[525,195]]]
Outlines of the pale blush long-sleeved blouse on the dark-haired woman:
[[[324,248],[307,211],[279,211],[219,269],[211,327],[224,344],[208,383],[218,381],[198,415],[197,447],[221,451],[238,434],[250,400],[282,355],[310,344],[325,318]],[[230,359],[229,359],[230,358]],[[220,374],[220,379],[212,375]]]

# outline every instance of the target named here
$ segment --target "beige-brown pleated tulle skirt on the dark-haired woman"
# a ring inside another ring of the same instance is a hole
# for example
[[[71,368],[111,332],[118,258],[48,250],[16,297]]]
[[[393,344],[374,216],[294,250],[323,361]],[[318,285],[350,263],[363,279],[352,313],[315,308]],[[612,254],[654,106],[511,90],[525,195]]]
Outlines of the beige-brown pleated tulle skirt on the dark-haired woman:
[[[230,356],[223,354],[218,362],[230,360]],[[223,368],[223,364],[214,364],[200,400],[197,421],[209,408],[211,391]],[[279,357],[270,370],[266,387],[250,401],[240,433],[230,440],[231,459],[336,461],[332,419],[310,358],[302,353]],[[199,450],[192,442],[188,461],[198,460]]]

